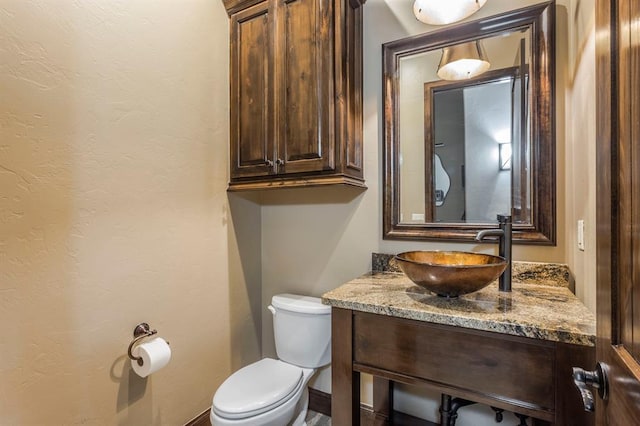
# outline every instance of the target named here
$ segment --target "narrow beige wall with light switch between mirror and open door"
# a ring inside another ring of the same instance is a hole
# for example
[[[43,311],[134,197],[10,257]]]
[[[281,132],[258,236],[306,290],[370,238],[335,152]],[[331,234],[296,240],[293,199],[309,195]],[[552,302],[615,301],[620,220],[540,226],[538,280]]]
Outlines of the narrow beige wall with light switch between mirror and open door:
[[[596,310],[596,66],[595,1],[573,0],[569,21],[567,53],[563,70],[567,103],[566,200],[567,227],[564,238],[567,264],[576,278],[576,294],[593,312]],[[563,31],[563,29],[559,29]],[[577,249],[577,221],[585,221],[585,250]]]

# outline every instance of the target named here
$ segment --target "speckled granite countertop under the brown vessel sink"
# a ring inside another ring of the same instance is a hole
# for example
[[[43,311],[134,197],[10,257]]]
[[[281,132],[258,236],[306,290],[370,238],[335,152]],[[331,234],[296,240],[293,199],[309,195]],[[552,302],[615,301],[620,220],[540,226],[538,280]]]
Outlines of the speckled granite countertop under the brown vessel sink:
[[[528,264],[523,265],[526,269]],[[322,302],[435,324],[595,346],[595,316],[565,281],[517,277],[513,275],[511,293],[498,291],[494,282],[475,293],[447,299],[418,287],[401,272],[372,272],[325,293]]]

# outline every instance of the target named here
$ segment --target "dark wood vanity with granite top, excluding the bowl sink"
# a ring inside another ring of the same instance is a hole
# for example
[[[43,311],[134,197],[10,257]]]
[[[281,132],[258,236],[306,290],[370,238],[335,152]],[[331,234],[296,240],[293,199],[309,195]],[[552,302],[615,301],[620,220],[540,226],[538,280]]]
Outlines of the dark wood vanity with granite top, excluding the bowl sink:
[[[376,424],[394,424],[394,382],[527,415],[534,424],[593,424],[571,375],[571,367],[595,360],[593,315],[567,288],[542,287],[516,283],[513,295],[491,288],[447,301],[402,274],[372,274],[325,294],[333,306],[332,421],[361,424],[360,374],[367,373]],[[545,316],[549,326],[540,328]]]

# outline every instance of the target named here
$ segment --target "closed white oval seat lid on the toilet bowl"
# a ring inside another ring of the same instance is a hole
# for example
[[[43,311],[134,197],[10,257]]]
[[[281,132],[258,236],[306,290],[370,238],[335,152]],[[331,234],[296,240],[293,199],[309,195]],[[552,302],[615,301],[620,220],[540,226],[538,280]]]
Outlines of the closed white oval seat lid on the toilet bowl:
[[[228,419],[255,416],[288,400],[301,382],[300,367],[265,358],[227,378],[213,397],[213,409]]]

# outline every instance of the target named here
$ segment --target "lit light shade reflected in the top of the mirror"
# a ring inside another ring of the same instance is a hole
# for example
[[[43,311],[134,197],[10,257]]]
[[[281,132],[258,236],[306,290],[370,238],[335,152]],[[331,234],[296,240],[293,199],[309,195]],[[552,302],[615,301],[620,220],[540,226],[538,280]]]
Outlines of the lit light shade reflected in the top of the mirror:
[[[480,41],[471,41],[442,50],[438,77],[443,80],[467,80],[482,74],[490,67]]]

